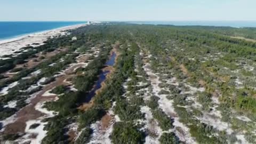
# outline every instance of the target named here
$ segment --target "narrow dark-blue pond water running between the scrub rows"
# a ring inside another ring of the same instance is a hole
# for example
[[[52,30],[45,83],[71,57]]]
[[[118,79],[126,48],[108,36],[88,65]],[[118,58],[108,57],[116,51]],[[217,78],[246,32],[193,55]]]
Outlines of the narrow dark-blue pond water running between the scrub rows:
[[[116,59],[116,53],[113,52],[111,53],[111,57],[110,59],[105,63],[105,66],[108,67],[108,66],[114,66],[115,65],[115,59]],[[98,81],[95,83],[94,87],[93,87],[93,90],[90,91],[87,95],[86,95],[86,98],[84,100],[84,102],[90,102],[91,99],[94,97],[95,95],[95,92],[97,90],[99,90],[101,88],[101,83],[104,82],[106,80],[106,77],[108,75],[110,71],[109,70],[102,70],[100,75],[99,75],[99,79]]]

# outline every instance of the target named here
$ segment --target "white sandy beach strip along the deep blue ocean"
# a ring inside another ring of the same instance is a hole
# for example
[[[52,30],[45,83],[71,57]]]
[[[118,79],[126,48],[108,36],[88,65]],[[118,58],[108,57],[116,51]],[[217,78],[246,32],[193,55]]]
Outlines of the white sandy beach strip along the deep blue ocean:
[[[77,29],[79,27],[87,26],[87,23],[81,23],[78,25],[71,25],[65,27],[59,27],[50,30],[39,31],[36,33],[25,34],[15,38],[9,39],[0,39],[0,58],[3,55],[10,55],[14,52],[19,51],[22,47],[26,46],[33,46],[37,47],[43,45],[43,42],[46,41],[48,38],[53,38],[55,36],[63,36],[69,35],[67,30]],[[36,44],[36,45],[33,45]]]

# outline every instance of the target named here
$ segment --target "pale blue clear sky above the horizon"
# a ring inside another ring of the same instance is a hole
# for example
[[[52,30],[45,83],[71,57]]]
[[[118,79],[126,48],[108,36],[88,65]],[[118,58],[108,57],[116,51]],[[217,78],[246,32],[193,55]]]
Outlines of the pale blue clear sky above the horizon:
[[[256,20],[256,0],[0,0],[0,21]]]

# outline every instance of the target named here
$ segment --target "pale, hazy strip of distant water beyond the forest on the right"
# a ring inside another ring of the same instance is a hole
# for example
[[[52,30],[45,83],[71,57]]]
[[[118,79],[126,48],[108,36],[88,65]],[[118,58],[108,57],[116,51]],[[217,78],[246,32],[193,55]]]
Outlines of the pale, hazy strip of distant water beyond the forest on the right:
[[[128,23],[174,26],[256,27],[256,21],[134,21]]]

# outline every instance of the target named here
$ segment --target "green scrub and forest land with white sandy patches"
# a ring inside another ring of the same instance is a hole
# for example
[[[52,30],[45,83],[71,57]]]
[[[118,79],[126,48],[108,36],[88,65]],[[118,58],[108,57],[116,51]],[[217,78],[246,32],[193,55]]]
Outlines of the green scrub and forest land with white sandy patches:
[[[256,29],[69,32],[0,60],[1,141],[256,143]]]

